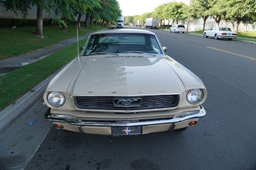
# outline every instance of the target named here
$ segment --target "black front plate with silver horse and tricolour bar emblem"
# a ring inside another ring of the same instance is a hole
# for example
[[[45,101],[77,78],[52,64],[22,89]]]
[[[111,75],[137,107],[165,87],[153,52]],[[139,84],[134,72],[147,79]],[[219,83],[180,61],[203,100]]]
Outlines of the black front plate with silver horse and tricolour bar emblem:
[[[141,126],[133,127],[112,127],[113,136],[132,136],[142,134]]]

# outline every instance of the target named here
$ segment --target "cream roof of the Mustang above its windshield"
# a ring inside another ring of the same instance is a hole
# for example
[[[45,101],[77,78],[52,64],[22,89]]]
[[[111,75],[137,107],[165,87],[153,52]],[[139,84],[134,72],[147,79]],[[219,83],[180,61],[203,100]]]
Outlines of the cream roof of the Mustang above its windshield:
[[[151,31],[147,30],[142,30],[142,29],[106,29],[106,30],[101,30],[101,31],[95,31],[92,33],[93,34],[108,34],[108,33],[140,33],[140,34],[152,34],[155,35]]]

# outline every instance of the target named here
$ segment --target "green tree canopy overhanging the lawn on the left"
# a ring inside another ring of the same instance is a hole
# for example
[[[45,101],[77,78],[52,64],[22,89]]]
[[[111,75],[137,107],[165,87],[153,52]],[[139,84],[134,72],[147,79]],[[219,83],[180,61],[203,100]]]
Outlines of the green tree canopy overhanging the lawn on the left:
[[[0,0],[6,10],[12,10],[17,15],[18,12],[23,14],[26,19],[31,6],[37,7],[37,28],[36,33],[40,37],[43,35],[43,11],[47,11],[60,25],[67,29],[67,19],[73,19],[78,15],[80,20],[82,15],[87,19],[100,21],[101,23],[115,22],[116,18],[121,15],[119,3],[116,0]]]

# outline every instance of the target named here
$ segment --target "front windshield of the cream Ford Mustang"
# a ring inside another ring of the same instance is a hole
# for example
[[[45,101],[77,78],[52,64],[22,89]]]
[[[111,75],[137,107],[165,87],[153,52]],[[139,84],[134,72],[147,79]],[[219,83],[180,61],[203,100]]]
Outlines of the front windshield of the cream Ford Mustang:
[[[163,54],[157,38],[151,34],[111,33],[90,36],[84,55],[96,53]]]

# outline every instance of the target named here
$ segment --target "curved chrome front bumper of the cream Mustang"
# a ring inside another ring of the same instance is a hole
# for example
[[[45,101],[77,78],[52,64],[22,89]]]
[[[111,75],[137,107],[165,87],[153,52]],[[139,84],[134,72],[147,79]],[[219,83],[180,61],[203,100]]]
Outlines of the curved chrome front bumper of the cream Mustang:
[[[100,122],[100,121],[84,121],[81,119],[76,120],[66,120],[66,119],[59,119],[56,117],[52,117],[50,113],[50,108],[44,114],[44,119],[51,121],[51,122],[62,122],[67,123],[69,125],[76,125],[76,126],[105,126],[105,127],[128,127],[128,126],[147,126],[147,125],[161,125],[161,124],[174,124],[178,122],[183,122],[189,119],[198,119],[204,117],[206,115],[206,111],[203,106],[200,105],[200,110],[198,113],[193,115],[188,115],[185,117],[170,117],[170,119],[165,120],[153,120],[153,121],[146,121],[141,120],[141,122]]]

